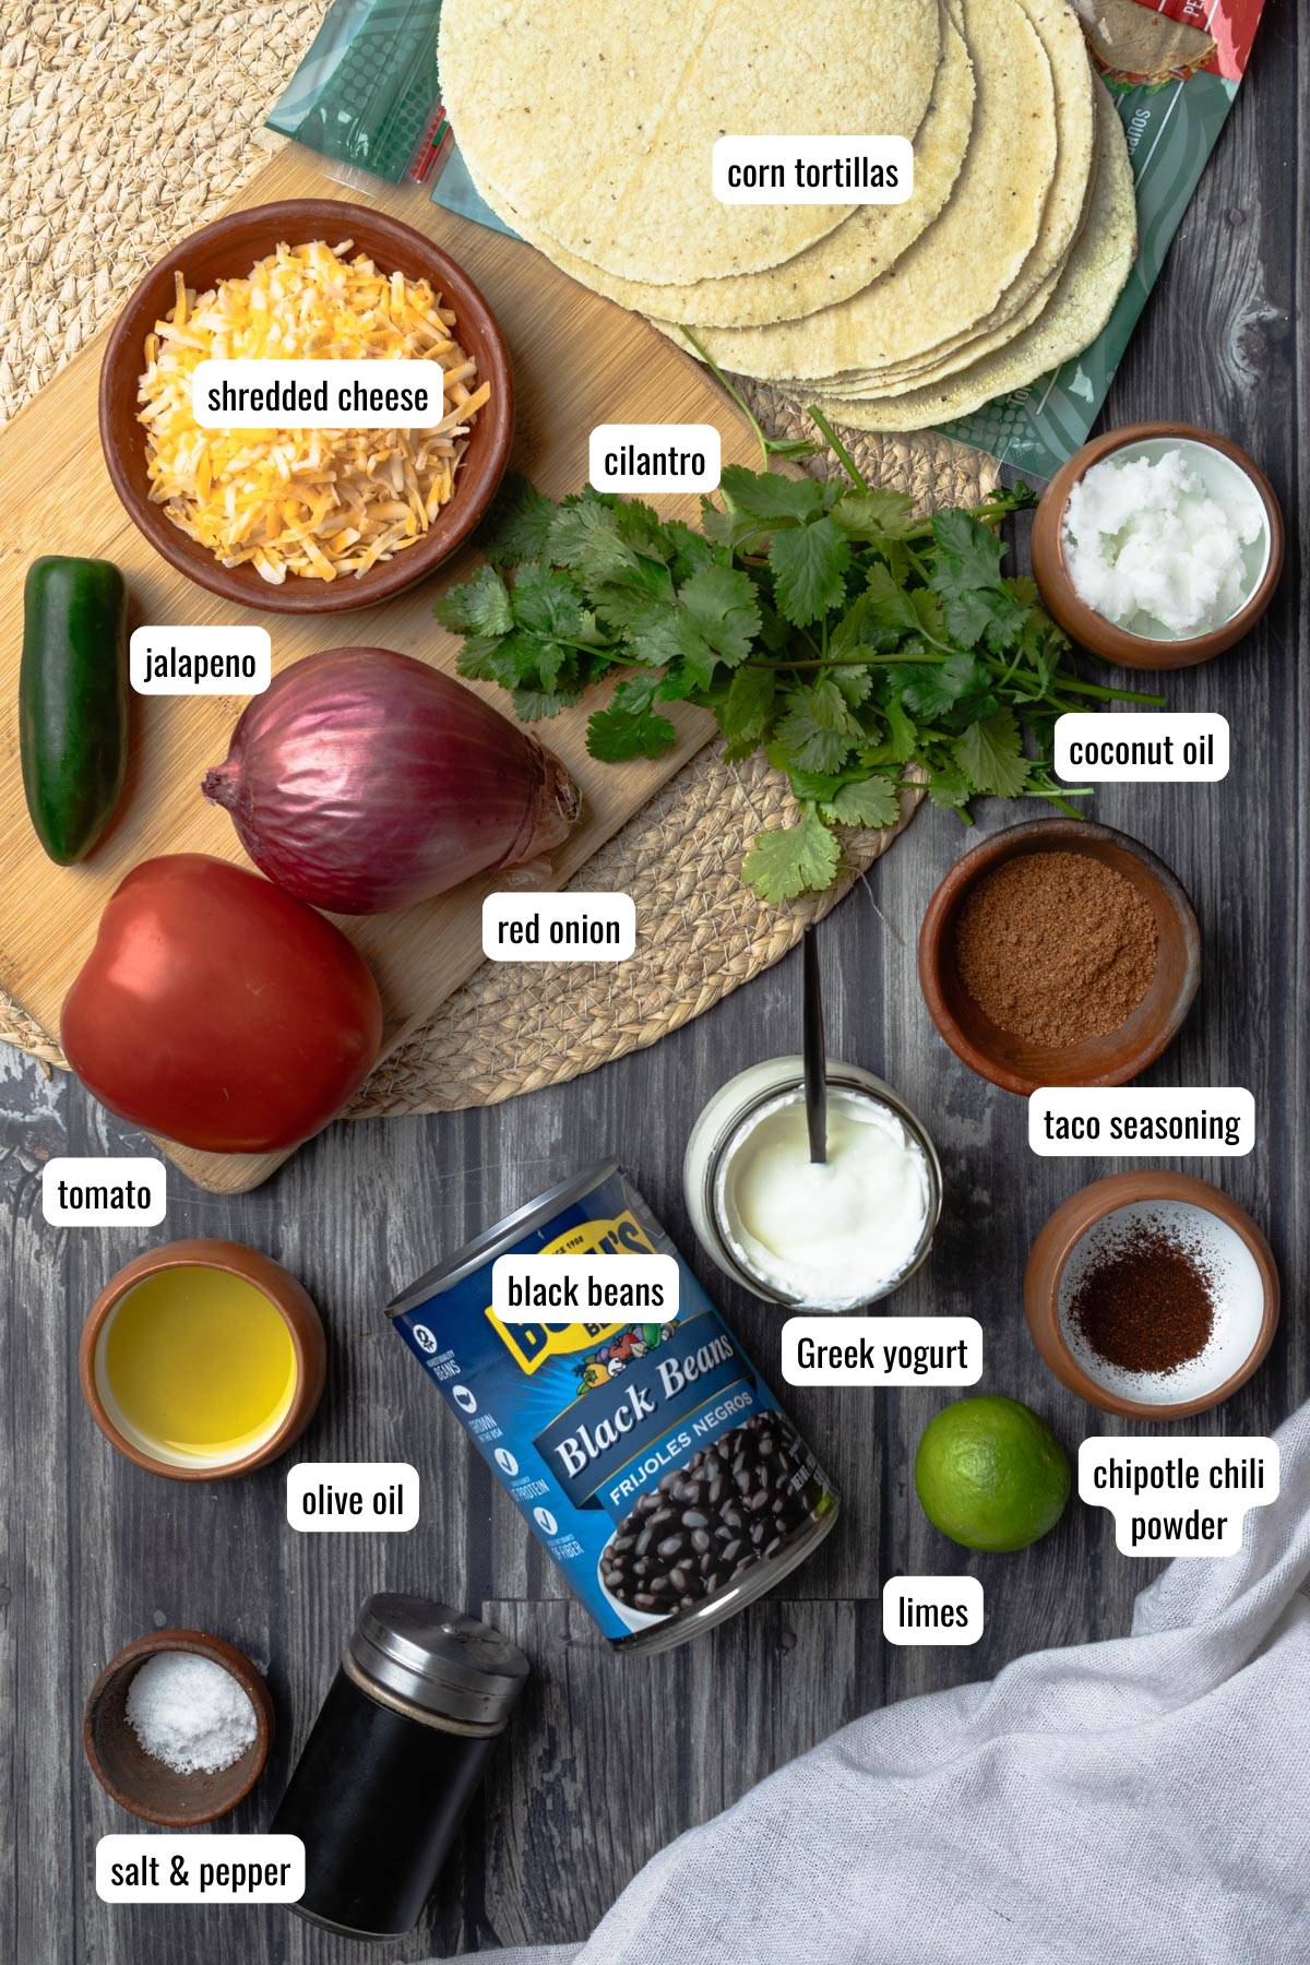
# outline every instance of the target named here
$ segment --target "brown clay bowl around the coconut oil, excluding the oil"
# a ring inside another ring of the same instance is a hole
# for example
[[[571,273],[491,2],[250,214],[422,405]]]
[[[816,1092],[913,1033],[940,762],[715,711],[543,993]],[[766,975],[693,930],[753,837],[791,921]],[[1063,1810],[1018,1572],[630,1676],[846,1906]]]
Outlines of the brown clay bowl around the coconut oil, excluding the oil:
[[[1194,444],[1208,444],[1210,450],[1220,450],[1226,458],[1231,458],[1259,491],[1265,503],[1265,519],[1269,521],[1269,560],[1251,599],[1224,627],[1216,627],[1208,635],[1194,635],[1190,641],[1151,641],[1145,635],[1129,635],[1127,629],[1106,621],[1104,615],[1098,615],[1078,595],[1064,564],[1064,507],[1068,505],[1072,487],[1102,458],[1123,450],[1127,444],[1141,444],[1153,438],[1180,438]],[[1129,422],[1121,430],[1108,430],[1104,436],[1084,444],[1055,474],[1037,507],[1029,550],[1033,580],[1041,590],[1041,597],[1070,641],[1090,648],[1104,662],[1118,662],[1121,668],[1192,668],[1196,662],[1208,662],[1214,654],[1224,654],[1226,648],[1239,643],[1269,607],[1283,576],[1283,513],[1279,511],[1275,489],[1259,464],[1237,444],[1231,444],[1228,436],[1218,436],[1214,430],[1202,430],[1190,422]]]

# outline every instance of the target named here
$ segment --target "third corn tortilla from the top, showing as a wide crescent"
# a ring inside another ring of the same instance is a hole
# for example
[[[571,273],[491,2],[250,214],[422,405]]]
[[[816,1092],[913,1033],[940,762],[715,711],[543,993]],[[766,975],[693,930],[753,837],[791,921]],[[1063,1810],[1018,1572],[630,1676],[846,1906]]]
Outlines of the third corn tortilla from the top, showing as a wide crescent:
[[[1019,0],[964,0],[964,39],[978,102],[943,214],[850,301],[770,328],[707,328],[715,362],[768,381],[833,377],[909,362],[990,314],[1041,228],[1057,163],[1055,83]]]

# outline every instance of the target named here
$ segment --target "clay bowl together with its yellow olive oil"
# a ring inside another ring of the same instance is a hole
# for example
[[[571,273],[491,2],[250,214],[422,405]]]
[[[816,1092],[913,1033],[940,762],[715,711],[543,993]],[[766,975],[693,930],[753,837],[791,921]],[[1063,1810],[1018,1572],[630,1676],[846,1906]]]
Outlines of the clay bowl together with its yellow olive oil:
[[[104,1436],[169,1480],[277,1460],[322,1395],[318,1311],[281,1263],[238,1242],[169,1242],[106,1283],[81,1377]]]

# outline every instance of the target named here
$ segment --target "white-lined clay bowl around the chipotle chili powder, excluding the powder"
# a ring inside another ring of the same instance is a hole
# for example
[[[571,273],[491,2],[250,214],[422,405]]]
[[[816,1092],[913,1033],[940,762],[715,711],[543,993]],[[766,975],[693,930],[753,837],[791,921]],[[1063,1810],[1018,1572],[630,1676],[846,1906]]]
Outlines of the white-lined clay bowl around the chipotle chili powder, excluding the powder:
[[[1137,1374],[1129,1379],[1114,1368],[1100,1368],[1090,1354],[1076,1356],[1066,1307],[1078,1263],[1096,1236],[1125,1220],[1131,1208],[1173,1214],[1190,1228],[1206,1216],[1220,1236],[1231,1230],[1237,1246],[1229,1283],[1220,1287],[1220,1328],[1204,1356],[1167,1376]],[[1247,1210],[1210,1181],[1161,1167],[1112,1173],[1070,1195],[1033,1242],[1023,1277],[1023,1313],[1043,1362],[1061,1385],[1088,1405],[1125,1419],[1188,1419],[1229,1399],[1259,1370],[1273,1344],[1279,1299],[1273,1250]]]

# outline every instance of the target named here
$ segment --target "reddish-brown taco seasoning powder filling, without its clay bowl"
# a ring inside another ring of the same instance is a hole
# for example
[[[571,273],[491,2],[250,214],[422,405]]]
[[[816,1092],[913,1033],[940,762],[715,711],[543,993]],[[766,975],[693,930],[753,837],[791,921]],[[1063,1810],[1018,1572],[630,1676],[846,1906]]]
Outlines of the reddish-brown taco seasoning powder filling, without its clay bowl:
[[[1133,882],[1090,853],[1021,853],[986,872],[955,929],[960,981],[1011,1038],[1066,1049],[1127,1024],[1159,935]]]

